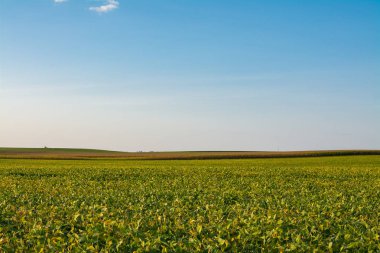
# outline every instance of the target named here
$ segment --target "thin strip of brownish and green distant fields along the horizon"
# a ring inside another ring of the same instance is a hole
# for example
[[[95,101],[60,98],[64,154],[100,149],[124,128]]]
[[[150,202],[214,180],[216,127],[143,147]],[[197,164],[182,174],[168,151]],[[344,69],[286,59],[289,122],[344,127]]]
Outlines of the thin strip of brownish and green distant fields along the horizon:
[[[183,152],[119,152],[97,149],[64,148],[0,148],[0,158],[30,159],[242,159],[281,157],[320,157],[347,155],[380,155],[380,150],[323,150],[323,151],[183,151]]]

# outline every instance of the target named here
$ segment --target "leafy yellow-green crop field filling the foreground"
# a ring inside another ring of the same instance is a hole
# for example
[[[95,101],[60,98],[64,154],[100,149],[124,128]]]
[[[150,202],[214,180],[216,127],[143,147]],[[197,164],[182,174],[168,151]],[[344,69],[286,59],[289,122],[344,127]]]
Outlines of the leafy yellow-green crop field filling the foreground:
[[[0,252],[379,252],[380,156],[0,159]]]

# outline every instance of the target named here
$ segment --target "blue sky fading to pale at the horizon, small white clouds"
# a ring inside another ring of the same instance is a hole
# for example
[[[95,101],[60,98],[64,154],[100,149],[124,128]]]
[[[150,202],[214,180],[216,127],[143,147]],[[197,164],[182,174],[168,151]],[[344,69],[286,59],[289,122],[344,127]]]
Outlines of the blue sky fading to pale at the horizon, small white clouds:
[[[380,1],[0,1],[0,146],[380,149],[379,129]]]

